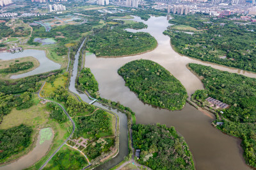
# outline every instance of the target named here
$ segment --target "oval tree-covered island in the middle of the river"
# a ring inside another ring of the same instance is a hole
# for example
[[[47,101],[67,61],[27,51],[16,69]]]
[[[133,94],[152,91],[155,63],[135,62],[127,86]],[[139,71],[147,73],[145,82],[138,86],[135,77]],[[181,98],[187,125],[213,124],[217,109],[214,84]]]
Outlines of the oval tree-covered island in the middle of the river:
[[[168,70],[154,61],[131,61],[119,68],[118,74],[124,78],[125,86],[147,104],[180,110],[188,98],[184,86]]]

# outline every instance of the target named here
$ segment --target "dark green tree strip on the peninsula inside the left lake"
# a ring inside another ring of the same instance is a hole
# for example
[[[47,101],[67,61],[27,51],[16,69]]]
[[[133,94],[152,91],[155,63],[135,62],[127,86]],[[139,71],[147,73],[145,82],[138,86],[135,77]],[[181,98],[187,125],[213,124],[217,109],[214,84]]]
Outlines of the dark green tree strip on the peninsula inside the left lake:
[[[17,73],[22,70],[28,70],[34,66],[33,62],[27,61],[22,63],[15,63],[10,65],[9,68],[0,69],[0,73]]]

